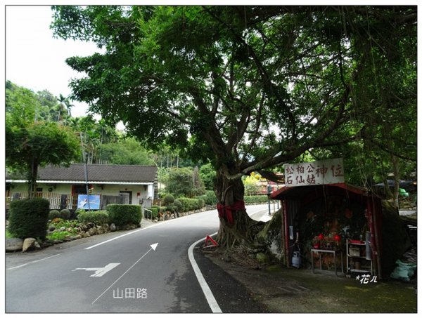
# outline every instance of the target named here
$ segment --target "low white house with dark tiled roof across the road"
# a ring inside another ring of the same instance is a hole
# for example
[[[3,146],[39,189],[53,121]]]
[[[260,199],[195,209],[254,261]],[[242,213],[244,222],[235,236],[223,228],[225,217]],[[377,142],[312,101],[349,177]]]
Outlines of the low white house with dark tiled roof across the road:
[[[157,167],[138,165],[84,164],[39,168],[37,196],[50,200],[50,208],[75,209],[78,194],[99,195],[106,204],[142,204],[149,207],[157,196]],[[27,197],[27,180],[6,175],[6,197]]]

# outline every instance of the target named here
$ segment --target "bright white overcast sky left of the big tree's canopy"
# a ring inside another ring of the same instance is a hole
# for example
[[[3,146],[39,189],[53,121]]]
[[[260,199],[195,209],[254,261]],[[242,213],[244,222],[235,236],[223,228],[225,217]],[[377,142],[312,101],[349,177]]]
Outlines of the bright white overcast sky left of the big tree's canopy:
[[[49,29],[52,14],[50,6],[6,6],[6,80],[34,92],[46,89],[68,96],[70,79],[83,74],[66,65],[66,58],[99,49],[92,43],[54,39]],[[87,104],[72,104],[72,116],[87,113]]]

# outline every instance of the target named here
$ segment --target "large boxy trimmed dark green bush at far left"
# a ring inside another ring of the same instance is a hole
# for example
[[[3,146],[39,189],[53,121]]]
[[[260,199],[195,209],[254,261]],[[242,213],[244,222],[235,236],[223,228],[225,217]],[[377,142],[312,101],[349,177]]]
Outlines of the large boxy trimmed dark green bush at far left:
[[[15,237],[46,237],[50,202],[42,198],[11,202],[8,231]]]

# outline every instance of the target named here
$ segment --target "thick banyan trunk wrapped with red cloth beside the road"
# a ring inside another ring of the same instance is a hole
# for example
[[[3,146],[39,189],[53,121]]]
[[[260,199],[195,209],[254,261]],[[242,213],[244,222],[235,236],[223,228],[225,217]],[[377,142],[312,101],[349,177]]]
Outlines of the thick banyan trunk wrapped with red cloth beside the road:
[[[252,247],[263,223],[252,220],[246,213],[243,201],[245,189],[241,178],[229,180],[217,171],[215,186],[220,220],[217,234],[219,246],[225,249],[238,245]]]

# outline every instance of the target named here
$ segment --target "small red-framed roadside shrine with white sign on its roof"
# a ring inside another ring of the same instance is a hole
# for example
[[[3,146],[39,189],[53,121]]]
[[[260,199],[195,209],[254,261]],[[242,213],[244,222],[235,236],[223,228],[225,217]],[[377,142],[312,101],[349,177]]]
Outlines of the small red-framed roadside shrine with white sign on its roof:
[[[345,273],[359,272],[362,263],[369,266],[366,268],[371,274],[381,277],[381,199],[364,188],[344,183],[341,159],[307,164],[299,175],[293,174],[293,170],[298,171],[298,166],[303,167],[303,164],[288,166],[286,187],[271,194],[271,199],[281,200],[283,207],[286,264],[297,267],[296,256],[300,251],[302,265],[309,268],[312,264],[312,270],[335,269],[337,274],[344,268]],[[337,178],[318,180],[321,170],[315,172],[316,167],[324,167],[322,172],[331,177],[335,177],[336,173],[339,175]],[[291,169],[290,175],[288,168]],[[288,185],[288,180],[292,180],[292,183],[300,180],[305,182]],[[363,248],[360,255],[362,262],[357,258],[348,258],[353,249],[347,246],[350,242]],[[365,263],[365,260],[369,260],[369,263]]]

